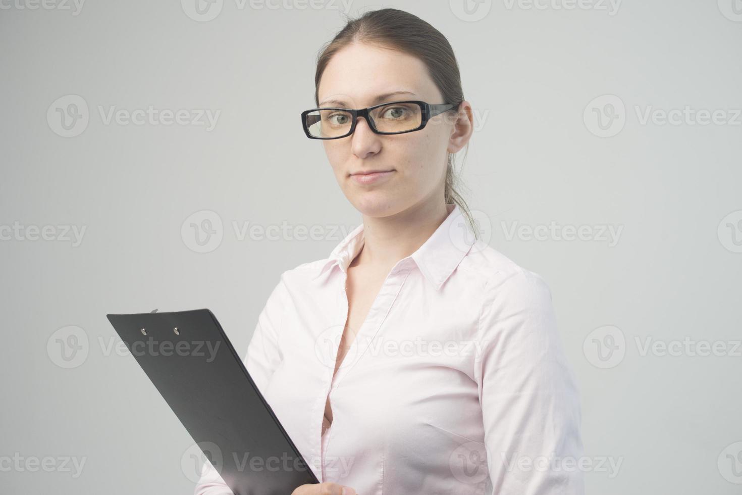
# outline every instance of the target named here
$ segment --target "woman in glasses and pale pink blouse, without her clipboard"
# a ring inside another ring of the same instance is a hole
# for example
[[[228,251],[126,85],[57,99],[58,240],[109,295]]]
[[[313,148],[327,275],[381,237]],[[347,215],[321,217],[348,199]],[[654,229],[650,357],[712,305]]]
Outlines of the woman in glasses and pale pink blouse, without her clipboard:
[[[582,494],[559,463],[582,456],[580,400],[548,286],[473,236],[453,188],[473,117],[449,43],[375,10],[315,85],[329,109],[304,131],[363,224],[283,272],[246,355],[321,481],[293,495]],[[196,494],[225,493],[207,463]]]

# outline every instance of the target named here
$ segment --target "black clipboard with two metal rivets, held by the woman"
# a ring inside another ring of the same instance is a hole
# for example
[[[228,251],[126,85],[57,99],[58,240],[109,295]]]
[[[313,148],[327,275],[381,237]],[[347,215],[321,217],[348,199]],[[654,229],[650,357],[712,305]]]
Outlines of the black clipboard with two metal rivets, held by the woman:
[[[234,495],[318,483],[214,314],[156,311],[106,316]]]

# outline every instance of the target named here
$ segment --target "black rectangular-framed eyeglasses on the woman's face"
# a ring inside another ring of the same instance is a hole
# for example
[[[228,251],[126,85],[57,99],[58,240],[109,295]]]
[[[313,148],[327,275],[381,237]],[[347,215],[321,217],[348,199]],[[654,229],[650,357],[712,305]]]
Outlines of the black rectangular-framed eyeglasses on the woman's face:
[[[312,140],[337,140],[355,131],[358,117],[364,117],[376,134],[404,134],[419,131],[428,120],[459,108],[459,103],[430,105],[415,99],[381,103],[369,108],[312,108],[301,112],[304,134]]]

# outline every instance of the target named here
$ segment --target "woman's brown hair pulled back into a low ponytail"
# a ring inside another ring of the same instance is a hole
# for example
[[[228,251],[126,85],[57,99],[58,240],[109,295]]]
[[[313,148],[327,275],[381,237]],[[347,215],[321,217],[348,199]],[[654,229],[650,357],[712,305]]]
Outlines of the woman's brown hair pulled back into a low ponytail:
[[[453,48],[439,30],[424,20],[404,10],[386,8],[364,13],[357,19],[348,19],[332,41],[320,51],[315,72],[315,104],[319,106],[319,86],[322,73],[332,56],[353,42],[364,42],[398,50],[421,59],[427,66],[430,77],[443,95],[443,101],[458,103],[464,100],[461,75]],[[469,143],[464,150],[464,160],[469,151]],[[455,203],[467,218],[472,232],[479,238],[478,229],[466,201],[456,190],[461,183],[454,171],[454,154],[449,153],[446,168],[444,200]]]

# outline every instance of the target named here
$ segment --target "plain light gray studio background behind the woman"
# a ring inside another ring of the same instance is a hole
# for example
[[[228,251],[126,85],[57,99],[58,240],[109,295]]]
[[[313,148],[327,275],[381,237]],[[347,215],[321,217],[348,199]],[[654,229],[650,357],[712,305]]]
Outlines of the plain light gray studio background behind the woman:
[[[0,240],[0,458],[85,459],[79,476],[56,460],[4,469],[4,493],[191,493],[191,439],[131,355],[111,351],[105,314],[209,307],[244,353],[280,273],[326,258],[361,221],[298,118],[344,6],[277,5],[0,10],[0,228],[22,226]],[[582,393],[587,492],[738,494],[742,4],[536,5],[352,1],[349,13],[409,10],[456,51],[478,119],[464,194],[490,245],[551,287]],[[88,122],[65,136],[57,108],[79,98]],[[220,114],[213,129],[107,123],[99,108],[113,105]],[[719,123],[643,120],[686,106]],[[214,215],[221,228],[198,246],[190,223]],[[589,227],[582,240],[509,235],[552,222]],[[245,223],[289,234],[240,240]],[[31,226],[53,227],[33,240]],[[85,228],[79,245],[65,226]],[[318,235],[297,238],[301,226]],[[648,338],[695,344],[663,355],[643,352]],[[718,355],[699,355],[703,342]]]

